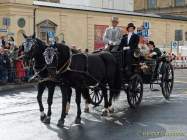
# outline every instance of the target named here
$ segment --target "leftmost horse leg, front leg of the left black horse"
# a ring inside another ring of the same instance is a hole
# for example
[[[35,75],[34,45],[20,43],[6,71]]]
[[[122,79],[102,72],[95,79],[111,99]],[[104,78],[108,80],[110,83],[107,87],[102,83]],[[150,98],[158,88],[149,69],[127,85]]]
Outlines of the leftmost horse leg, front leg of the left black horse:
[[[43,122],[43,120],[46,118],[46,114],[44,113],[44,107],[42,104],[42,95],[45,90],[45,83],[38,83],[38,95],[37,95],[37,101],[40,109],[40,120]]]

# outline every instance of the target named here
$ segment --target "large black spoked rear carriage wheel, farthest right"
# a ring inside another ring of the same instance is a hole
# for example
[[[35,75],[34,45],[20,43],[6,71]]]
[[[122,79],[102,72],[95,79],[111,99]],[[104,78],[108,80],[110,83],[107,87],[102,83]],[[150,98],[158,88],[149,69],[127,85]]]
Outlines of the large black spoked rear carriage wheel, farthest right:
[[[167,63],[164,69],[165,70],[162,74],[162,79],[161,79],[161,88],[164,98],[166,100],[169,100],[173,90],[174,70],[173,70],[173,66],[170,63]]]

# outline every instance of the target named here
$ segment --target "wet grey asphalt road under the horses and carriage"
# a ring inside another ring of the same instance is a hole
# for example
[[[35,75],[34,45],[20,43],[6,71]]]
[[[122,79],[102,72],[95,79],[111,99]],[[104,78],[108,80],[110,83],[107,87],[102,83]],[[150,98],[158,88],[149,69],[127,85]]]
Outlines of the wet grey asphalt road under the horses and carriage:
[[[0,140],[187,140],[187,70],[175,71],[170,101],[161,91],[145,87],[141,106],[132,110],[121,93],[114,102],[114,114],[101,117],[103,106],[91,108],[91,113],[82,114],[81,125],[74,124],[73,97],[63,129],[56,126],[61,113],[60,90],[55,91],[50,125],[39,120],[36,95],[36,89],[0,93]],[[43,101],[47,109],[46,91]]]

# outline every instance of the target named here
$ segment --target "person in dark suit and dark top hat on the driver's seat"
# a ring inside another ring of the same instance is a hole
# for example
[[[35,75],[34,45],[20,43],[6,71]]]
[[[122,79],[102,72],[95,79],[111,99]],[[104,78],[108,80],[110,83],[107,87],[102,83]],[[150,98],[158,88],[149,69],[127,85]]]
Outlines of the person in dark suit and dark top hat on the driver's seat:
[[[134,33],[136,27],[133,23],[129,23],[127,26],[128,34],[124,35],[119,45],[119,50],[125,51],[125,64],[124,68],[128,71],[128,74],[132,72],[132,60],[134,50],[138,49],[139,36]]]

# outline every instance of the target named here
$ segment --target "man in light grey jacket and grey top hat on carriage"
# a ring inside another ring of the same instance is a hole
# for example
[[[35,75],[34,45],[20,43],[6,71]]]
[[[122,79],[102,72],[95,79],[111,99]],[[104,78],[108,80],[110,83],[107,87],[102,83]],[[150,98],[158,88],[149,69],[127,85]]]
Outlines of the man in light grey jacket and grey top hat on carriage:
[[[119,18],[113,16],[111,19],[112,26],[108,27],[105,30],[104,36],[103,36],[103,42],[105,44],[105,49],[108,51],[111,50],[117,50],[122,36],[123,36],[123,30],[118,27],[119,24]]]

